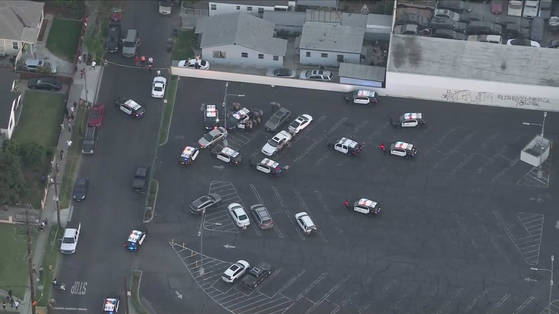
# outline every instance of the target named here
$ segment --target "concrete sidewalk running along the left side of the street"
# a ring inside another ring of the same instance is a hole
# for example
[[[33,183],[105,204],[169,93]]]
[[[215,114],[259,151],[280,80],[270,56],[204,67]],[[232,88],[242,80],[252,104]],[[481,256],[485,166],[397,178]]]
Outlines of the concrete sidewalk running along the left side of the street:
[[[96,20],[97,16],[97,11],[96,10],[92,10],[92,12],[89,12],[89,21],[94,21]],[[88,27],[94,27],[94,23],[91,22]],[[87,51],[86,51],[87,52]],[[79,104],[80,98],[82,99],[86,99],[86,95],[87,95],[87,100],[89,103],[94,103],[94,101],[97,98],[97,91],[99,88],[99,85],[101,83],[101,77],[102,77],[102,73],[103,73],[103,68],[101,66],[102,64],[98,64],[96,66],[97,71],[94,71],[91,69],[91,66],[89,65],[85,65],[85,63],[82,61],[82,64],[78,64],[78,70],[76,71],[76,73],[74,74],[74,84],[72,84],[72,87],[70,87],[70,91],[68,93],[68,102],[67,102],[67,107],[68,110],[70,110],[70,107],[73,106],[74,102]],[[81,79],[81,75],[80,75],[80,70],[84,69],[86,72],[86,78],[84,80]],[[87,82],[87,84],[86,84]],[[83,110],[85,108],[85,102],[84,102],[84,106],[77,106],[75,108],[74,111],[74,115],[77,117],[76,121],[75,121],[75,126],[78,127],[80,123],[82,123],[82,121],[80,121],[80,115],[82,115]],[[83,123],[87,123],[87,116],[84,118]],[[68,121],[66,119],[64,119],[64,132],[60,134],[59,140],[58,140],[58,147],[56,148],[57,152],[59,152],[60,150],[64,149],[67,150],[67,144],[66,142],[72,137],[72,133],[68,131]],[[73,128],[72,128],[73,129]],[[72,132],[74,132],[74,130],[72,130]],[[76,130],[77,132],[77,130]],[[57,153],[58,155],[58,153]],[[64,156],[66,157],[66,156]],[[67,159],[61,159],[57,156],[56,158],[56,163],[59,164],[59,168],[60,168],[60,175],[58,178],[60,178],[58,180],[59,184],[61,182],[61,178],[62,178],[62,174],[64,173],[64,170],[67,168],[70,168],[71,166],[79,166],[74,164],[66,164]],[[78,161],[79,163],[79,161]],[[59,189],[60,192],[60,189]],[[40,218],[39,221],[44,220],[45,218],[49,219],[49,225],[50,227],[54,227],[56,228],[57,225],[57,217],[56,217],[56,202],[54,200],[54,187],[51,186],[49,188],[48,191],[48,196],[46,197],[46,202],[45,202],[45,207],[44,210],[41,212],[40,214]],[[60,224],[61,226],[65,226],[66,223],[68,222],[68,219],[70,217],[70,215],[72,214],[72,210],[73,210],[73,206],[70,206],[70,208],[60,208]],[[42,264],[42,256],[45,253],[45,250],[48,249],[48,236],[49,236],[49,232],[40,232],[39,235],[37,236],[37,242],[35,245],[35,250],[33,251],[33,255],[32,255],[32,263],[35,265],[41,265]],[[35,283],[35,287],[37,287],[36,283]],[[45,296],[46,297],[46,296]],[[36,298],[39,298],[39,296],[36,296]],[[31,313],[31,293],[28,291],[25,294],[25,298],[23,299],[23,302],[20,306],[20,312],[21,313]]]

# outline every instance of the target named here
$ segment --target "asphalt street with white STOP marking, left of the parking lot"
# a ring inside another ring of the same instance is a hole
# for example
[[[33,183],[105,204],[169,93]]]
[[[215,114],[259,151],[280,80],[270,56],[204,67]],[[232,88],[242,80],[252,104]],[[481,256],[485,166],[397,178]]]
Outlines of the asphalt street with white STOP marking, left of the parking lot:
[[[172,32],[172,20],[158,14],[157,2],[137,1],[127,6],[123,32],[139,31],[139,53],[153,56],[156,67],[168,65],[162,49]],[[150,21],[143,23],[142,21]],[[108,55],[111,63],[131,65],[133,60],[120,54]],[[117,292],[124,297],[122,275],[130,279],[136,255],[122,244],[130,230],[143,218],[145,196],[131,189],[136,164],[151,164],[157,141],[163,101],[153,99],[153,75],[145,69],[109,64],[103,72],[97,101],[105,103],[105,121],[100,129],[96,153],[83,156],[80,175],[89,178],[87,199],[73,204],[72,222],[82,223],[77,252],[61,257],[58,280],[67,291],[53,292],[59,308],[101,309],[103,297]],[[117,110],[114,101],[127,96],[146,109],[141,120]],[[60,310],[63,311],[63,310]]]

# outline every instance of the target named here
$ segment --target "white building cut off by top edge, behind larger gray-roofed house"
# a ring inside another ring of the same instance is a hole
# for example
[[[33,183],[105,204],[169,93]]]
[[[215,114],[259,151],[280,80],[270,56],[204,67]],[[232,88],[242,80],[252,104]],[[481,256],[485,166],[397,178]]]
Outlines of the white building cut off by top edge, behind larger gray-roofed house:
[[[264,11],[287,11],[295,7],[295,1],[288,0],[211,0],[208,2],[210,16],[243,12],[252,15],[264,14]]]

